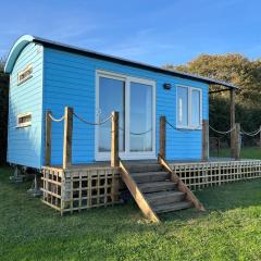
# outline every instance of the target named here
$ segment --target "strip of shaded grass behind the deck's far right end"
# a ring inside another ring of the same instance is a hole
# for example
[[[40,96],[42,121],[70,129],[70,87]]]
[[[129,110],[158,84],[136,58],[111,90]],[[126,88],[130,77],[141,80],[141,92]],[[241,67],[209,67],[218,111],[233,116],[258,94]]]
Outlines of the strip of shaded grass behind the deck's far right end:
[[[211,157],[227,158],[227,157],[231,157],[231,150],[229,149],[221,149],[219,154],[216,153],[216,151],[211,151],[210,156]],[[259,147],[241,148],[240,158],[241,159],[258,159],[258,160],[261,160],[261,148],[259,148]]]

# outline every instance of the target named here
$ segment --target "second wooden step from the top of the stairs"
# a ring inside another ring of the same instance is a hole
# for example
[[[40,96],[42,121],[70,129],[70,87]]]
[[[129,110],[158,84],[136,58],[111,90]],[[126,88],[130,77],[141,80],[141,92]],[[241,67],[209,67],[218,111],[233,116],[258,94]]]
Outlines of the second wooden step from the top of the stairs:
[[[130,176],[135,179],[136,183],[170,181],[170,174],[166,172],[138,172],[132,173]]]

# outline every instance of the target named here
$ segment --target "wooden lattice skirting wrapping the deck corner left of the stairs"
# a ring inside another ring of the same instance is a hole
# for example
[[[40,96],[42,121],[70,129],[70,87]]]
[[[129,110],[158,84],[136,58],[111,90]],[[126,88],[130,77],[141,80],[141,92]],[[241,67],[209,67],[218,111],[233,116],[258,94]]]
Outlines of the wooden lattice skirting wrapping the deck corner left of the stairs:
[[[42,169],[42,202],[65,212],[120,202],[116,167]]]

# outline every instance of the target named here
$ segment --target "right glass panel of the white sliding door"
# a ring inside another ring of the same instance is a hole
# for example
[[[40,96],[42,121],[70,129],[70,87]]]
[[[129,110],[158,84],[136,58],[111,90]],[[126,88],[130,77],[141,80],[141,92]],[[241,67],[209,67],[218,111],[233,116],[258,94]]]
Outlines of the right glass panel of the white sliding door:
[[[152,151],[152,86],[130,83],[129,149]]]

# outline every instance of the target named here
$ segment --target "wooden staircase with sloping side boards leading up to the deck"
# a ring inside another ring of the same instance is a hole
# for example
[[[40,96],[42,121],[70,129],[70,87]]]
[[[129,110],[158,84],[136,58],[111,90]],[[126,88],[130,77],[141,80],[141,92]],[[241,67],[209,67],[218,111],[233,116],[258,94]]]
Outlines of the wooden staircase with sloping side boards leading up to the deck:
[[[158,214],[202,204],[173,173],[165,160],[158,162],[123,163],[120,161],[122,177],[144,214],[153,222],[159,222]]]

